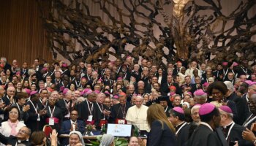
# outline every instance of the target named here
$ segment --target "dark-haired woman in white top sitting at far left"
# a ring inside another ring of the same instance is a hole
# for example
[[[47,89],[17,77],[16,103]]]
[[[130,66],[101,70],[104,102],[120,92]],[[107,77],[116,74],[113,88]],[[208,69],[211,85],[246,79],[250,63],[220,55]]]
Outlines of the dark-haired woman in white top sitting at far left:
[[[20,116],[20,112],[18,110],[18,107],[12,106],[8,110],[8,120],[1,123],[1,134],[3,134],[5,137],[9,137],[10,135],[16,136],[18,134],[18,131],[20,128],[26,126],[24,123],[20,122],[18,120]],[[3,144],[1,144],[3,145]]]

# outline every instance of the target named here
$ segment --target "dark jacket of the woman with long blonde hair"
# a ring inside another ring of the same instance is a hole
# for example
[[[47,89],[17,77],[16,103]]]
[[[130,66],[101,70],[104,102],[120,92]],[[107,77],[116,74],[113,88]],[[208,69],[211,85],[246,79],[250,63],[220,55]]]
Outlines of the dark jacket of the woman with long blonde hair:
[[[176,145],[176,137],[173,131],[159,120],[154,120],[148,133],[147,146],[172,146]]]

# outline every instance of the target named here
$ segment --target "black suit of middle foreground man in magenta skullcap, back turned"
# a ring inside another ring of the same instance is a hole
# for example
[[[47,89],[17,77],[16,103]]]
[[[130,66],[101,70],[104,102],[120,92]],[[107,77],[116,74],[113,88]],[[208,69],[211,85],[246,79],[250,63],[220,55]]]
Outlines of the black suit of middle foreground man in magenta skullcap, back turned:
[[[187,142],[188,146],[221,146],[222,142],[214,131],[211,131],[208,126],[201,124],[198,126],[189,141]]]

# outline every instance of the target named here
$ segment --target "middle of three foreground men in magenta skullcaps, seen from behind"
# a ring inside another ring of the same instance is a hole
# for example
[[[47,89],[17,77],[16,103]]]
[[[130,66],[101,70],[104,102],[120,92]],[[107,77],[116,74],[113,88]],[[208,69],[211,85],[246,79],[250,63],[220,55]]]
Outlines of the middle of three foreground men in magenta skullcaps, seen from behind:
[[[198,126],[192,136],[190,137],[187,145],[189,146],[221,146],[222,142],[215,132],[219,127],[220,114],[219,110],[214,104],[203,104],[199,109],[200,126]]]

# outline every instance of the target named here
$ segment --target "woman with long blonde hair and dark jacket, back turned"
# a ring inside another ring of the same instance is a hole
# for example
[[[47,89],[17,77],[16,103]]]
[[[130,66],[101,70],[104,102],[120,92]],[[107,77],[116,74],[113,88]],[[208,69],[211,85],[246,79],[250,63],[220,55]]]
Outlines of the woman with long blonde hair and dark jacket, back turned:
[[[147,146],[176,145],[175,128],[167,119],[165,110],[160,104],[152,104],[148,107],[147,122],[151,128]]]

